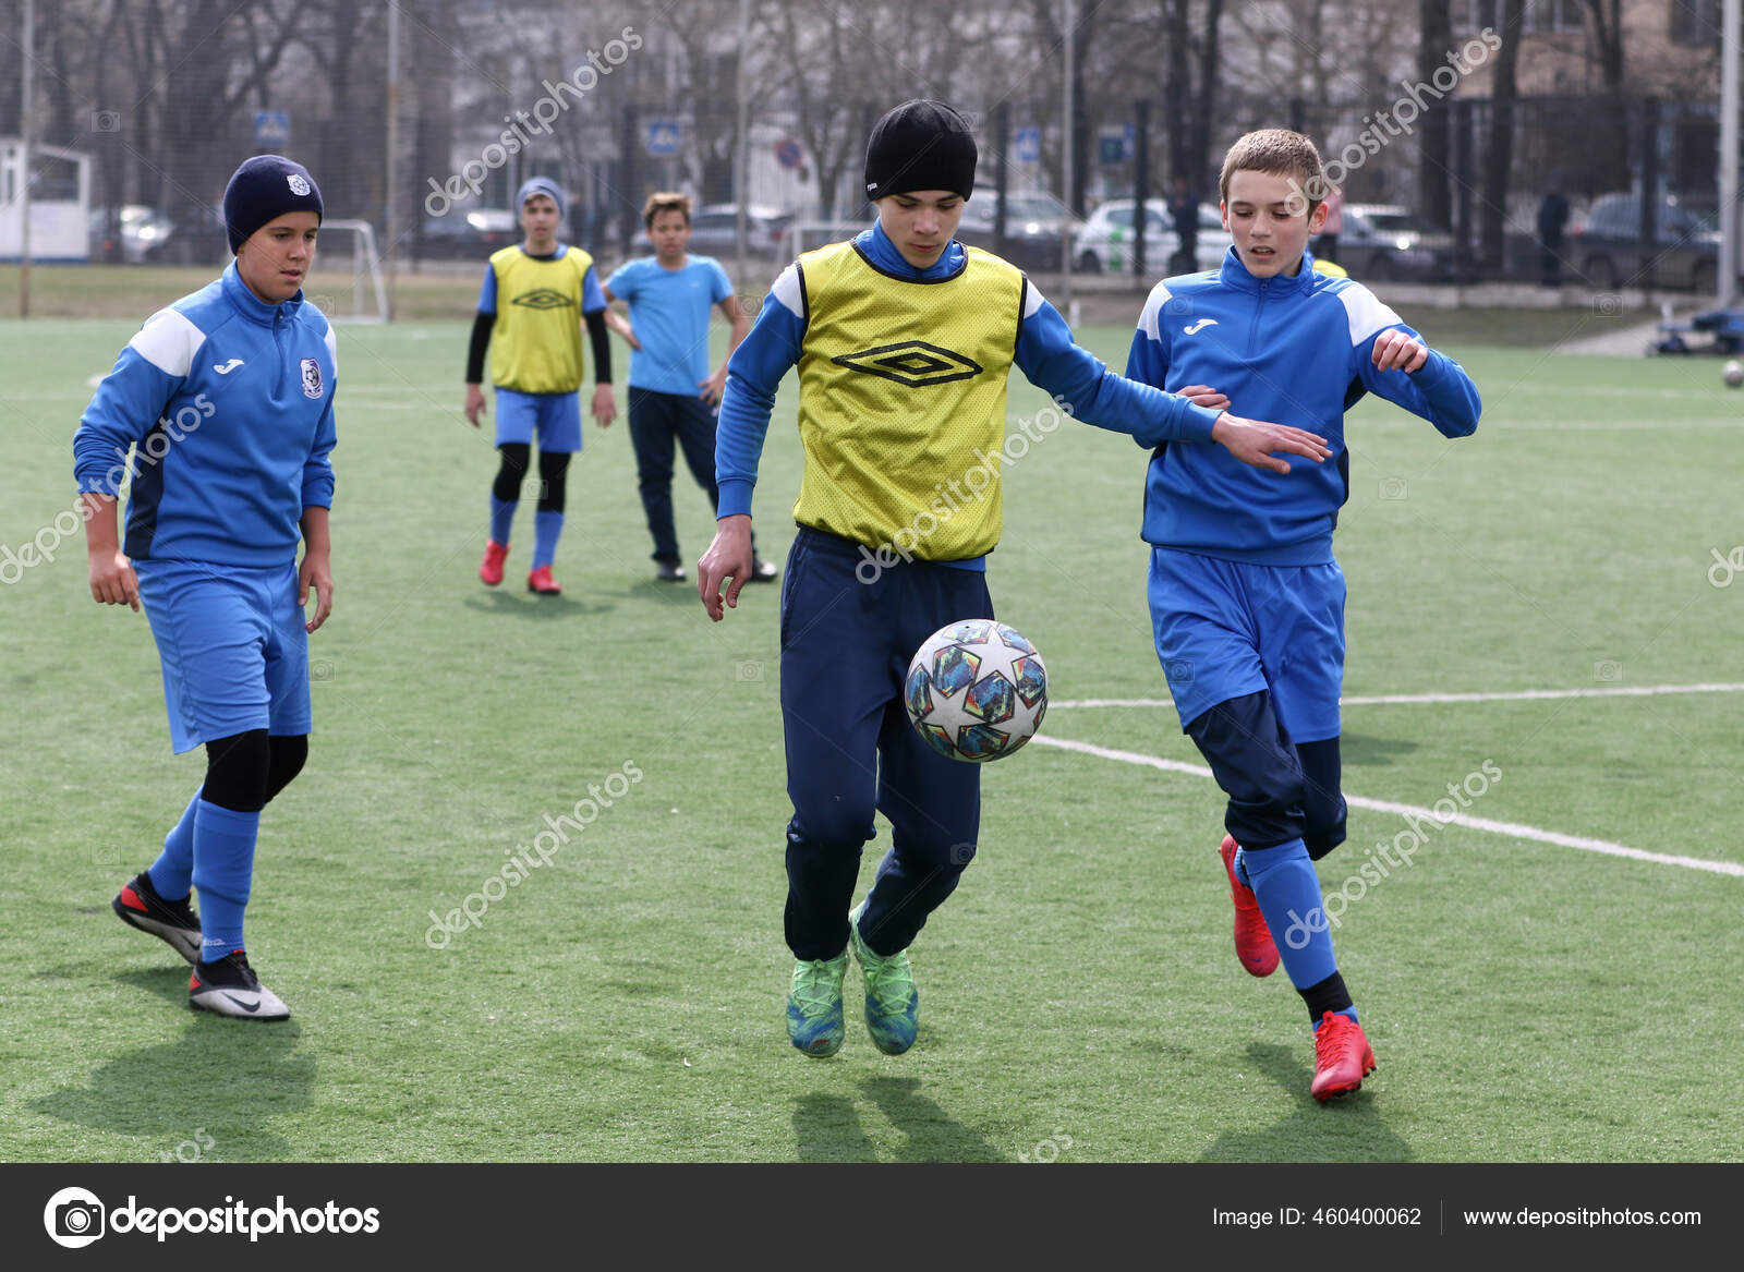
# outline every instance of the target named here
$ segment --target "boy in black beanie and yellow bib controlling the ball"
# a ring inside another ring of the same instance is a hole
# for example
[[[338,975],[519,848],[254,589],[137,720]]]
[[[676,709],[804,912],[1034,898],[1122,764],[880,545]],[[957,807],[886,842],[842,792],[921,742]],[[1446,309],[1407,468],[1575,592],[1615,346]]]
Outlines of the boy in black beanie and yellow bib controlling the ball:
[[[1062,410],[1146,445],[1216,443],[1278,471],[1289,464],[1273,452],[1327,454],[1311,433],[1196,407],[1191,387],[1134,384],[1073,344],[1017,267],[952,239],[975,157],[968,124],[940,101],[884,115],[865,166],[877,225],[794,262],[727,365],[720,516],[698,562],[715,621],[752,572],[757,459],[776,387],[799,366],[806,466],[781,586],[781,715],[794,801],[787,1022],[807,1056],[842,1045],[849,946],[874,1045],[900,1054],[914,1043],[907,947],[975,855],[980,769],[909,728],[902,677],[937,628],[994,616],[985,557],[1003,523],[999,473],[978,489],[970,473],[985,473],[1005,441],[1012,366]],[[874,811],[891,822],[891,850],[849,914]]]

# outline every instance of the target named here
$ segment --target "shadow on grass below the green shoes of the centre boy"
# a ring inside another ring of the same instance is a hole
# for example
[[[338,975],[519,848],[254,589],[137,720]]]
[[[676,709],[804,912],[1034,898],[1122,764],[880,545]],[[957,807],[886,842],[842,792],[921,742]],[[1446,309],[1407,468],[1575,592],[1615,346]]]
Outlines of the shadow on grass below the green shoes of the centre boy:
[[[860,1091],[903,1134],[888,1160],[1008,1162],[1006,1153],[954,1120],[930,1096],[921,1078],[867,1078]],[[860,1124],[858,1101],[807,1094],[794,1106],[794,1138],[800,1162],[877,1162],[877,1145]]]

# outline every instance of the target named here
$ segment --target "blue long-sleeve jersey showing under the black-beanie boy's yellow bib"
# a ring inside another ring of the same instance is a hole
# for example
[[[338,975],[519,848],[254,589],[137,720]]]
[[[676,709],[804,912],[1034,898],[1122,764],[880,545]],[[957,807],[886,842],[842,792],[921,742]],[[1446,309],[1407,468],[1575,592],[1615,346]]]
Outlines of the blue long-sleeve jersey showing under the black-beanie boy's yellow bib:
[[[879,225],[862,232],[855,243],[877,269],[898,277],[947,277],[963,269],[964,250],[956,241],[940,253],[938,262],[924,269],[903,260]],[[1128,433],[1148,447],[1163,441],[1210,441],[1212,424],[1221,412],[1195,407],[1186,398],[1109,372],[1095,354],[1073,342],[1066,319],[1032,283],[1024,297],[1013,361],[1031,384],[1053,394],[1071,415],[1114,433]],[[769,431],[774,394],[781,377],[799,363],[806,318],[799,274],[788,265],[774,281],[750,335],[727,363],[727,389],[715,434],[720,516],[752,509],[757,461]]]

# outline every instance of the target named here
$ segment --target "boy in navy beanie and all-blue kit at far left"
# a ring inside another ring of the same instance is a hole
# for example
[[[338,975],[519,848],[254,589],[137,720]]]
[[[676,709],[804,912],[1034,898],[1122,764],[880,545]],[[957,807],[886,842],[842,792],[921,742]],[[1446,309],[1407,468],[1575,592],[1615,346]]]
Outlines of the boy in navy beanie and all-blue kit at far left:
[[[248,961],[242,911],[262,810],[309,756],[309,633],[333,609],[335,342],[302,295],[321,227],[309,171],[249,159],[223,211],[235,260],[120,351],[73,434],[73,475],[91,598],[145,609],[171,747],[206,749],[201,789],[112,907],[194,965],[190,1007],[284,1021]]]

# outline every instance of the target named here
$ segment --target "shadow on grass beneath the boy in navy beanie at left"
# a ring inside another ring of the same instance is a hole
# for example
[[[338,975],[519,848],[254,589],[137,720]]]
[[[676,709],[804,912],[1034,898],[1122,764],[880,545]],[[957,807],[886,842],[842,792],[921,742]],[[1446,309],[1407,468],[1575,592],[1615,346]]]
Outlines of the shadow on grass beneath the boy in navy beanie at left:
[[[302,1031],[295,1019],[251,1022],[190,1012],[187,968],[124,972],[115,981],[162,1000],[150,1010],[180,1012],[187,1031],[176,1042],[96,1066],[84,1085],[31,1101],[35,1111],[143,1139],[157,1152],[176,1152],[202,1131],[213,1139],[208,1152],[216,1162],[295,1155],[270,1129],[272,1118],[312,1103],[316,1063],[296,1050]]]

